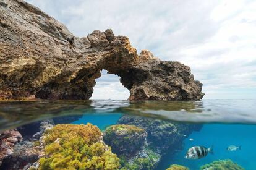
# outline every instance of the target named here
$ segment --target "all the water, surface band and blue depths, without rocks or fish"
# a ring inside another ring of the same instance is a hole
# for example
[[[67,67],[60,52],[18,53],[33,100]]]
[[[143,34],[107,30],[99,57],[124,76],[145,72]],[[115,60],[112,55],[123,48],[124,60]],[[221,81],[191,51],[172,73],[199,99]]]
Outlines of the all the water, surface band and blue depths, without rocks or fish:
[[[182,150],[163,155],[156,169],[181,164],[200,169],[203,164],[231,159],[245,169],[256,169],[256,100],[141,101],[126,100],[35,100],[1,101],[0,130],[19,127],[38,120],[78,116],[73,124],[97,125],[104,130],[117,124],[123,115],[150,117],[164,121],[202,124],[202,129],[184,137]],[[198,160],[185,159],[195,145],[214,146],[214,155]],[[241,150],[227,151],[229,145]]]

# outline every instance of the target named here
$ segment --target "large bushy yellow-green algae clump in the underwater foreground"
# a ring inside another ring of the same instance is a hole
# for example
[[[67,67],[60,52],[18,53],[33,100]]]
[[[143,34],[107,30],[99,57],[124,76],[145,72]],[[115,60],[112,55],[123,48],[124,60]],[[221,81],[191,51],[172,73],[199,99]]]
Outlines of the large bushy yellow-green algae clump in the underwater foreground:
[[[59,124],[45,132],[39,169],[118,169],[119,158],[92,124]]]

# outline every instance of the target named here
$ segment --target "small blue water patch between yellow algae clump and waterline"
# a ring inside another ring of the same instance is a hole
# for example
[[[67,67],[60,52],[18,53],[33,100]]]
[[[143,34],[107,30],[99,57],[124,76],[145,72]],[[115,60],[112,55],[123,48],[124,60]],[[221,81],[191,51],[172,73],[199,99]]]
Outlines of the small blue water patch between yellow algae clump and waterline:
[[[121,113],[83,115],[79,120],[72,122],[72,124],[90,123],[96,125],[100,130],[105,130],[109,125],[116,124],[121,116]]]

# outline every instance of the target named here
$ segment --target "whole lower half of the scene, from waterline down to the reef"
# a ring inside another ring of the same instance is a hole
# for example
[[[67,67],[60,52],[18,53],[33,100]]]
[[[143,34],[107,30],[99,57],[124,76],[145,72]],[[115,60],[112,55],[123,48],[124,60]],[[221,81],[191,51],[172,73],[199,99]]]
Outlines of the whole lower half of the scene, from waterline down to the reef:
[[[256,100],[1,101],[0,169],[256,169]]]

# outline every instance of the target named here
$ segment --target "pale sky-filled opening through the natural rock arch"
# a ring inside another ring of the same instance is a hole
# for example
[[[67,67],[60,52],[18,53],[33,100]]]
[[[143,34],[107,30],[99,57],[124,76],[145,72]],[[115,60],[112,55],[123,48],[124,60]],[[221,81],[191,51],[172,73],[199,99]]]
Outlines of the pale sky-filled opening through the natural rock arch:
[[[130,91],[122,85],[120,77],[108,74],[107,70],[101,70],[101,76],[95,81],[96,85],[90,99],[127,100],[130,96]]]

